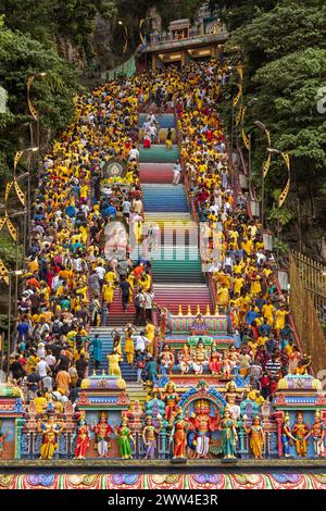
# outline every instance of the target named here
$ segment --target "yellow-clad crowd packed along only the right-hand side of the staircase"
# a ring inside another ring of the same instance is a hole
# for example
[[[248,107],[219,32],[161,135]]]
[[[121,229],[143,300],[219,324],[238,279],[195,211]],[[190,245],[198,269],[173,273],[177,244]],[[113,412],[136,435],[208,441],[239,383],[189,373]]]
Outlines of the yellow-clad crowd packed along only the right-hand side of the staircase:
[[[200,222],[201,254],[214,283],[220,312],[231,319],[239,374],[251,375],[265,397],[279,377],[304,374],[311,359],[296,345],[287,292],[279,292],[273,253],[248,211],[248,197],[231,183],[218,101],[227,65],[189,64],[175,99],[181,155]],[[216,109],[217,103],[217,109]],[[223,364],[222,357],[221,361]],[[227,358],[227,357],[226,357]]]

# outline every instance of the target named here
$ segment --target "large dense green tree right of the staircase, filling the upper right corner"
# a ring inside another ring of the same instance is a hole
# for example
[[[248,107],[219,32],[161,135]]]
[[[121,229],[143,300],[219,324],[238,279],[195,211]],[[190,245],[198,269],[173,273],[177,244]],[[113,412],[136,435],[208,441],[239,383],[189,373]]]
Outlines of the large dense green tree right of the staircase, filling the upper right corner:
[[[272,146],[290,153],[296,200],[289,204],[298,217],[305,204],[305,217],[298,220],[302,232],[317,214],[321,224],[325,219],[325,209],[316,211],[315,197],[321,196],[326,165],[326,116],[317,111],[317,95],[326,83],[326,7],[322,0],[283,0],[275,2],[274,9],[272,3],[256,9],[248,2],[249,12],[242,22],[238,20],[228,47],[240,49],[238,59],[244,64],[243,103],[258,98],[247,111],[244,129],[261,121],[271,130]],[[236,90],[235,82],[236,74],[227,90],[229,96]],[[230,107],[224,111],[224,119],[228,117]],[[252,130],[252,139],[253,170],[261,173],[266,141],[258,128]],[[274,202],[272,191],[285,182],[284,164],[278,162],[266,179],[269,207]]]

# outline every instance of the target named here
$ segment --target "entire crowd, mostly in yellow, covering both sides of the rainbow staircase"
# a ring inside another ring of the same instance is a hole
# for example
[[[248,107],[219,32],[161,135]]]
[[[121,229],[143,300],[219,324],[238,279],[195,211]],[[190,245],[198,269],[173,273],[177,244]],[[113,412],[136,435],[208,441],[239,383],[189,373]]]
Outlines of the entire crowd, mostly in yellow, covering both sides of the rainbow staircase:
[[[153,352],[150,257],[142,251],[134,261],[130,237],[121,236],[125,229],[136,245],[146,246],[137,145],[139,103],[147,101],[163,110],[173,105],[176,112],[204,269],[236,338],[233,357],[227,353],[234,361],[230,371],[238,366],[268,397],[283,374],[303,374],[310,365],[293,340],[287,296],[278,292],[262,226],[248,214],[246,196],[237,195],[230,183],[218,117],[226,79],[227,68],[217,61],[190,63],[112,82],[77,100],[75,122],[45,158],[36,189],[15,350],[8,361],[11,379],[24,385],[27,399],[35,398],[40,408],[49,392],[59,404],[76,399],[89,353],[99,366],[89,327],[106,324],[114,299],[122,300],[125,312],[135,308],[136,327],[146,324],[140,334],[131,334],[130,326],[125,332],[125,356],[137,367],[137,379],[154,382],[158,362],[164,366],[162,354],[155,360]],[[150,142],[156,140],[151,114],[145,134]],[[121,175],[105,174],[112,159],[123,162]],[[176,166],[175,185],[180,162]],[[117,345],[115,352],[123,357]],[[227,366],[227,357],[218,357],[221,366]],[[181,359],[172,353],[170,360],[168,370]]]

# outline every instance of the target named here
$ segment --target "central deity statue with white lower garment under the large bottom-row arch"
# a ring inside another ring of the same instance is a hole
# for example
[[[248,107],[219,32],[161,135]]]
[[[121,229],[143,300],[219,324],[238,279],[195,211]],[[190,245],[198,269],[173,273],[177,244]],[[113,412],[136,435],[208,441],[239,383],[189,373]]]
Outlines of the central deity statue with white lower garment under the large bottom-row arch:
[[[217,429],[218,415],[210,415],[211,403],[208,399],[195,402],[193,413],[189,417],[188,445],[195,450],[196,458],[208,458],[212,433]]]

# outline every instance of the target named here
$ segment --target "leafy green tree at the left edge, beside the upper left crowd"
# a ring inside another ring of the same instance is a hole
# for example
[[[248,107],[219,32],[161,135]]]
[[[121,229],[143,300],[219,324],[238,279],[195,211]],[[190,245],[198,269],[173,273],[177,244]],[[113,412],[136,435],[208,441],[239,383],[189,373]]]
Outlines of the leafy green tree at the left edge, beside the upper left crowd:
[[[73,98],[82,91],[80,73],[61,59],[54,48],[20,32],[13,32],[0,20],[0,84],[8,91],[8,113],[0,119],[0,172],[8,172],[20,144],[27,144],[30,120],[26,104],[28,76],[47,72],[46,78],[36,79],[33,102],[41,116],[42,130],[55,135],[71,122]],[[20,142],[21,139],[21,142]]]

